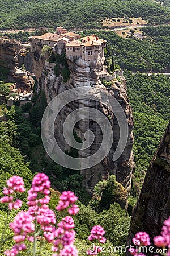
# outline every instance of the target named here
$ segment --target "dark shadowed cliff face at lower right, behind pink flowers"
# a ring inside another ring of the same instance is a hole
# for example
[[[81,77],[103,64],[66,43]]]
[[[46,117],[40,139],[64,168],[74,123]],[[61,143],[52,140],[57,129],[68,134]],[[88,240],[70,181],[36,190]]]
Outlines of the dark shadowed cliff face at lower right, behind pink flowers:
[[[170,123],[148,168],[135,207],[128,245],[139,230],[154,238],[160,234],[163,222],[170,216]],[[126,255],[129,255],[128,253]],[[147,254],[148,256],[152,254]]]

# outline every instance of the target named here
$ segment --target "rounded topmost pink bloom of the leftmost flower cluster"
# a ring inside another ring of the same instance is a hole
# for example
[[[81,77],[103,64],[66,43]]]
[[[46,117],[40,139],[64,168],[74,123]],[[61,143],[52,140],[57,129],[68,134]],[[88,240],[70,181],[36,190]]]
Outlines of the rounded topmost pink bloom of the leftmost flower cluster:
[[[12,176],[10,179],[6,181],[9,188],[13,189],[14,191],[24,192],[24,181],[22,177],[19,176]],[[5,190],[6,191],[6,190]]]

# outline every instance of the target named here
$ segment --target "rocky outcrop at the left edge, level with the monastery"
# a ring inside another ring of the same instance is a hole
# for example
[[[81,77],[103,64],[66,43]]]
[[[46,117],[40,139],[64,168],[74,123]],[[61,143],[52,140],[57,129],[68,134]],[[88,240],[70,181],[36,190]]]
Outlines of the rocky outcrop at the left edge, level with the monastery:
[[[19,44],[9,38],[0,38],[0,65],[8,69],[15,69],[18,65],[16,49]]]

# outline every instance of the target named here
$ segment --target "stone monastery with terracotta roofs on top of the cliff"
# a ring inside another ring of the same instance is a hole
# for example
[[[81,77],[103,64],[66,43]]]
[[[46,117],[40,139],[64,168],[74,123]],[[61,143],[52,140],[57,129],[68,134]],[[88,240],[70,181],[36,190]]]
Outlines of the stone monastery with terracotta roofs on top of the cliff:
[[[31,51],[40,51],[44,45],[54,47],[59,54],[66,52],[66,57],[81,57],[86,61],[100,61],[104,58],[106,40],[96,35],[81,38],[79,34],[67,32],[63,27],[57,27],[55,34],[46,33],[41,36],[30,36]]]

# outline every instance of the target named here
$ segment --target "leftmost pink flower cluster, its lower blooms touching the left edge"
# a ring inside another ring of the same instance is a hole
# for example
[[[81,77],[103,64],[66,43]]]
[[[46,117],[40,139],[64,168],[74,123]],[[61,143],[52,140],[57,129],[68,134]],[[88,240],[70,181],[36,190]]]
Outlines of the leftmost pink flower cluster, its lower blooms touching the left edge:
[[[1,197],[0,202],[8,203],[10,210],[22,207],[22,201],[20,199],[16,199],[14,201],[12,194],[14,192],[22,193],[25,191],[23,178],[19,176],[12,176],[6,183],[8,188],[3,188],[3,194],[6,196]]]

